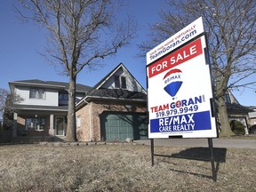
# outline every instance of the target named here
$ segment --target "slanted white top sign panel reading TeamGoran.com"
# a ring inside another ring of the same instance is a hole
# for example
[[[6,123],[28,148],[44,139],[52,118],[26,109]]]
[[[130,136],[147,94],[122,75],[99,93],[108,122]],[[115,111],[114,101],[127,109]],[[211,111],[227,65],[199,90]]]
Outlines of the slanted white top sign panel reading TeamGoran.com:
[[[174,36],[165,40],[162,44],[157,45],[154,49],[147,53],[147,64],[161,58],[164,54],[172,52],[180,45],[187,43],[189,40],[204,32],[203,19],[198,18],[186,28],[181,29]]]

